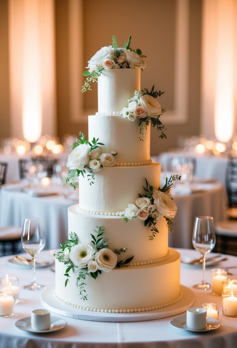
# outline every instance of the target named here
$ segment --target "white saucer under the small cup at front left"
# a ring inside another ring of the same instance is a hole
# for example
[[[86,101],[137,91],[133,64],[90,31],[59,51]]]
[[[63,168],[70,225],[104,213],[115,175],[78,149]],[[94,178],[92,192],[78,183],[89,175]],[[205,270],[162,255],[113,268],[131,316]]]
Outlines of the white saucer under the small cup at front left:
[[[16,322],[16,327],[18,329],[32,332],[32,333],[48,333],[48,332],[53,332],[57,331],[60,329],[63,329],[64,326],[66,326],[67,322],[64,319],[58,318],[58,317],[50,317],[51,318],[51,325],[49,330],[34,330],[31,327],[31,317],[19,319]]]

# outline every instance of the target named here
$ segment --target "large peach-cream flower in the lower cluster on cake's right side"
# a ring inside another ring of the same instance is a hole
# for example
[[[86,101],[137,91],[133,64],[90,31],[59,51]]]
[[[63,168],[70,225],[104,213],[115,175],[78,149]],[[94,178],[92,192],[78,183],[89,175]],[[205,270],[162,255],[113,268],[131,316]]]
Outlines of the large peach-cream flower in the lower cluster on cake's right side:
[[[153,192],[154,204],[160,215],[171,218],[174,217],[177,211],[177,206],[174,201],[162,191]]]

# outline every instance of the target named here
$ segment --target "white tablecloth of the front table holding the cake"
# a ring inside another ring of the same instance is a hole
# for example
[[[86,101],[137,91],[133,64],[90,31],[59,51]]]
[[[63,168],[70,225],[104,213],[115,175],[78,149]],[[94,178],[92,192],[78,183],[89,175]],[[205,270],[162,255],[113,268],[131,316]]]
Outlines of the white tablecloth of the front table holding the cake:
[[[199,254],[195,250],[178,249],[181,258],[196,258]],[[53,258],[48,251],[42,251],[38,260],[49,260]],[[36,258],[36,259],[37,259]],[[32,271],[30,268],[21,266],[10,266],[7,260],[9,256],[0,258],[1,276],[8,273],[19,277],[19,285],[28,284]],[[230,268],[233,278],[237,277],[237,257],[228,256],[218,266]],[[211,268],[206,269],[207,281],[211,281]],[[181,284],[191,288],[202,278],[202,269],[198,267],[187,267],[181,265]],[[48,268],[37,268],[36,279],[39,283],[51,286],[55,277]],[[170,325],[172,317],[144,322],[108,323],[91,322],[79,319],[56,316],[67,321],[67,325],[57,332],[50,334],[32,334],[19,330],[15,322],[19,319],[29,317],[31,311],[43,308],[40,303],[40,293],[23,290],[20,288],[20,301],[15,305],[15,314],[12,317],[0,317],[1,347],[25,347],[25,348],[236,348],[237,322],[236,318],[225,317],[222,314],[221,297],[212,295],[211,291],[200,291],[193,289],[195,302],[193,307],[202,307],[203,303],[216,303],[219,307],[219,321],[221,327],[218,330],[205,333],[191,333]],[[184,313],[185,314],[185,313]]]

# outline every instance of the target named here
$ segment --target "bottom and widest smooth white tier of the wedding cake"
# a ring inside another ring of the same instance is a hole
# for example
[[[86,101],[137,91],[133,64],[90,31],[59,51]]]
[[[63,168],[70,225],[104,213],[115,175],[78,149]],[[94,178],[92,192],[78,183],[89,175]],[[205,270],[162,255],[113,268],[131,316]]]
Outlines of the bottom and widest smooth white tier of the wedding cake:
[[[78,271],[70,273],[65,287],[67,266],[55,262],[56,296],[70,305],[96,309],[135,309],[169,305],[180,296],[180,254],[170,249],[169,259],[155,264],[114,268],[102,272],[96,279],[85,279],[87,301],[81,299],[76,287]]]

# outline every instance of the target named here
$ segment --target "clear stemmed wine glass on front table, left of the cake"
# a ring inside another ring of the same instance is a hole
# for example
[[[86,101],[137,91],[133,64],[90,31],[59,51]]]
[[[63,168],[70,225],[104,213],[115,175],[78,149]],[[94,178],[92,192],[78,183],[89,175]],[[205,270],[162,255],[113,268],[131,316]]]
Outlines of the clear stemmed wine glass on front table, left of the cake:
[[[45,289],[46,286],[37,284],[36,278],[35,278],[35,256],[36,254],[39,254],[41,250],[43,250],[43,248],[45,247],[45,234],[44,234],[44,226],[43,226],[42,217],[24,219],[22,235],[21,235],[21,243],[22,243],[23,249],[32,256],[32,262],[33,262],[32,282],[29,285],[23,286],[23,289],[33,290],[33,291]]]

